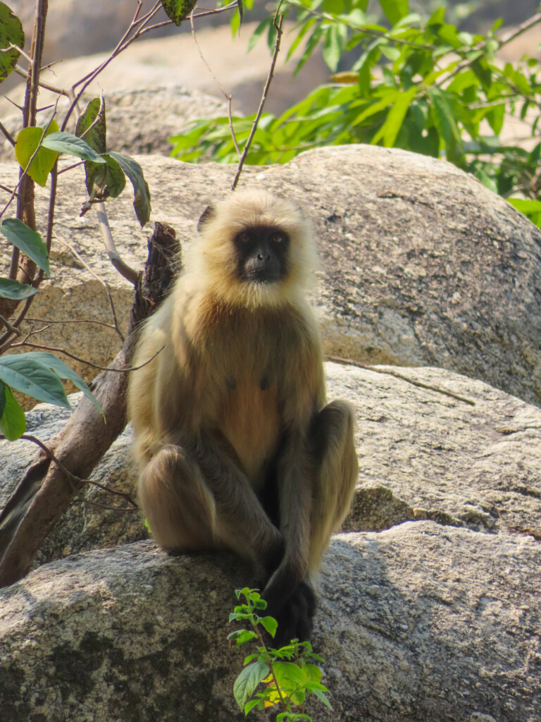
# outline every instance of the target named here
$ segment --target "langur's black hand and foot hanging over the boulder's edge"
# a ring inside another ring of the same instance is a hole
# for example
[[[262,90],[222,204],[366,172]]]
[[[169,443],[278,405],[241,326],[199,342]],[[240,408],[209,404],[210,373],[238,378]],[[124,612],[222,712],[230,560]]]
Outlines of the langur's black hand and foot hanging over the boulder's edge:
[[[315,593],[309,582],[294,582],[280,572],[273,575],[262,593],[267,602],[266,614],[278,622],[273,640],[276,647],[286,645],[292,639],[301,642],[309,639],[316,608]]]

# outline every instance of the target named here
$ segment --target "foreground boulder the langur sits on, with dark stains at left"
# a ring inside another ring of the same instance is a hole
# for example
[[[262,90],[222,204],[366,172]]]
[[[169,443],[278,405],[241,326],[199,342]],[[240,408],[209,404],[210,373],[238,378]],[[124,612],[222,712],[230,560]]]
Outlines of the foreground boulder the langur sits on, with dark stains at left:
[[[540,570],[528,536],[421,521],[335,538],[314,638],[333,711],[308,711],[322,722],[536,722]],[[247,583],[226,554],[168,557],[151,541],[40,567],[0,591],[2,718],[244,719],[232,684],[247,650],[229,648],[226,620]]]

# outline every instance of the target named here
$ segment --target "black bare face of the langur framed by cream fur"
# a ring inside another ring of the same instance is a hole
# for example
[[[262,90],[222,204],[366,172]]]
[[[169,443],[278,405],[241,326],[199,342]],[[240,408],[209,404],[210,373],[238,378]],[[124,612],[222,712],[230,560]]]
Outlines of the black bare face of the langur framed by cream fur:
[[[276,226],[249,226],[233,240],[241,281],[276,283],[286,277],[289,236]]]

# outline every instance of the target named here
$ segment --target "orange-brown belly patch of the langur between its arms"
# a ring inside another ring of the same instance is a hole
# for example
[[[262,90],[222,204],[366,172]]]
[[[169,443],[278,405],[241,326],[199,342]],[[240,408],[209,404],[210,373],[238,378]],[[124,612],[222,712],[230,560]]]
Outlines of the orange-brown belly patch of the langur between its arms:
[[[280,435],[276,385],[263,378],[229,380],[219,414],[219,430],[237,452],[243,470],[254,486],[276,453]]]

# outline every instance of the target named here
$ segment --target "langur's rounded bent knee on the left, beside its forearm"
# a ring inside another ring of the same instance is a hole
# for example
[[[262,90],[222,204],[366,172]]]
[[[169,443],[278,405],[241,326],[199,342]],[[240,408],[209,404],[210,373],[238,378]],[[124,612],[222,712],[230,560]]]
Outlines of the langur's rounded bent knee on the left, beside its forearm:
[[[139,477],[138,496],[151,534],[168,550],[211,549],[216,505],[195,459],[165,446]]]

